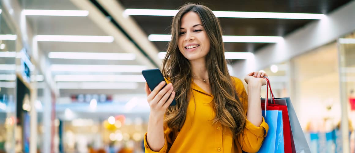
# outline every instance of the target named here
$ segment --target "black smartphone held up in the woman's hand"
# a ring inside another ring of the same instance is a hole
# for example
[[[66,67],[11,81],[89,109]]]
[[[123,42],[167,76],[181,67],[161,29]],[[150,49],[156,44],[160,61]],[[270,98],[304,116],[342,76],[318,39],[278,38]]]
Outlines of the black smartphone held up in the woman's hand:
[[[148,84],[149,88],[151,89],[151,91],[153,91],[154,88],[159,85],[159,83],[161,83],[162,81],[165,81],[163,74],[162,74],[162,72],[160,72],[159,69],[142,70],[142,74],[143,74],[144,79],[146,79],[147,84]],[[167,84],[165,82],[164,87],[166,85]],[[175,98],[174,98],[173,102],[171,102],[170,106],[174,106],[174,105],[176,105]]]

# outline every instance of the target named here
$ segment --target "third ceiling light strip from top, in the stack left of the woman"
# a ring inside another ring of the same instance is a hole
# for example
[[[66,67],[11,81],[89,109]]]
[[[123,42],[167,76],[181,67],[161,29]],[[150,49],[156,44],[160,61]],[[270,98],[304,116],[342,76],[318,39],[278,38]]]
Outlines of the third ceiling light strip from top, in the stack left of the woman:
[[[49,52],[48,57],[85,60],[135,60],[136,55],[132,53]]]

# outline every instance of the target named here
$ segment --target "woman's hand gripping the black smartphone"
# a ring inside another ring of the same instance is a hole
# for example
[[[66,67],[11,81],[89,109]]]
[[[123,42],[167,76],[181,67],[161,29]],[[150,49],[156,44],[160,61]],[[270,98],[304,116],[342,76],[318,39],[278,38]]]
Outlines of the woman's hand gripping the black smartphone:
[[[149,107],[151,108],[151,114],[154,114],[154,116],[158,118],[164,118],[166,109],[170,106],[175,97],[173,85],[169,83],[163,88],[164,85],[165,81],[162,81],[157,87],[154,88],[153,91],[149,89],[147,83],[145,87],[147,101],[149,103]]]

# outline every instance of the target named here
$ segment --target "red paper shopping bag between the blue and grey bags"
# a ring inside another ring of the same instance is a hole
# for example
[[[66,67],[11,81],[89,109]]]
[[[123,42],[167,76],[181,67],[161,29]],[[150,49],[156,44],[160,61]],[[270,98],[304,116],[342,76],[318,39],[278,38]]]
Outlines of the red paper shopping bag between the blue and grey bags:
[[[282,120],[283,120],[283,134],[284,134],[284,148],[285,152],[295,151],[292,143],[292,133],[290,120],[288,116],[288,110],[285,100],[275,100],[274,95],[272,94],[270,82],[267,78],[264,78],[267,81],[267,90],[266,90],[266,99],[261,100],[262,110],[278,110],[282,111]],[[268,99],[268,88],[270,89],[271,99]],[[277,104],[279,103],[279,104]],[[283,105],[282,105],[283,104]]]

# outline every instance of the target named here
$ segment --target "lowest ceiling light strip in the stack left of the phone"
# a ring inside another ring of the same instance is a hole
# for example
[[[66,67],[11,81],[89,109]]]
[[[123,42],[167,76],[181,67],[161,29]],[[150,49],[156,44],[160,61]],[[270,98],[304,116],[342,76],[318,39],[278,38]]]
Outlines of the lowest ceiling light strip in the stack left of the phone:
[[[138,83],[108,83],[108,82],[92,82],[92,83],[57,83],[59,89],[137,89]]]

